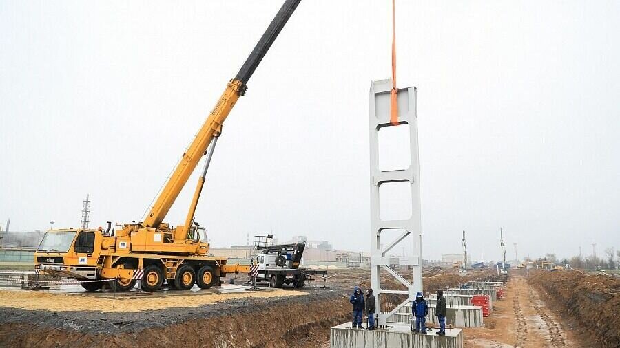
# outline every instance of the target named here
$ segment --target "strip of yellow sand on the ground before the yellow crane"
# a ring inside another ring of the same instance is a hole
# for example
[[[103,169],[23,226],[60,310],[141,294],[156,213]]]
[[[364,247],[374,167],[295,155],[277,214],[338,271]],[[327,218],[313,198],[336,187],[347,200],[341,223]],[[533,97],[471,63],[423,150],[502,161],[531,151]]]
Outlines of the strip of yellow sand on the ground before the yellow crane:
[[[271,298],[282,296],[302,296],[306,292],[296,290],[274,290],[265,292],[240,292],[232,294],[192,294],[188,296],[167,296],[158,298],[97,298],[92,296],[61,294],[30,290],[0,290],[0,303],[5,307],[19,309],[45,309],[64,312],[140,312],[145,308],[156,310],[171,307],[199,307],[239,298]]]

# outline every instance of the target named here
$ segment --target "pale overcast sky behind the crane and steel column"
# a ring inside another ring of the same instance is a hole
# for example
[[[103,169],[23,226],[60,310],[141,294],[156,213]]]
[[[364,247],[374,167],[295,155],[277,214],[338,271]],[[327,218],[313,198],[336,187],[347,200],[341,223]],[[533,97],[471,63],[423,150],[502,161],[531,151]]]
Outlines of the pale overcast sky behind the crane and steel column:
[[[424,257],[620,248],[620,2],[397,0]],[[139,220],[281,1],[0,1],[0,220]],[[390,1],[302,1],[225,122],[196,219],[369,250]],[[200,164],[202,166],[202,164]],[[198,171],[196,171],[198,172]],[[185,219],[194,176],[166,221]],[[397,248],[400,252],[400,248]]]

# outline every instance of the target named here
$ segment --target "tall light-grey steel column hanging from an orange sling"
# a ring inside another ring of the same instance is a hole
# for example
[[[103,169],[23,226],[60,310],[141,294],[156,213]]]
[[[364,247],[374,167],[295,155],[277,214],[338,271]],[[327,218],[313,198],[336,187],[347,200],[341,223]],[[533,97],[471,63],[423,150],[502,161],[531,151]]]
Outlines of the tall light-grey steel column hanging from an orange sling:
[[[370,175],[371,175],[371,287],[377,297],[377,325],[386,325],[386,319],[397,312],[400,307],[411,303],[415,293],[422,291],[422,226],[420,224],[420,163],[417,150],[417,96],[416,88],[398,90],[398,121],[409,124],[409,146],[411,162],[409,168],[402,170],[381,171],[379,168],[379,130],[391,127],[390,123],[390,89],[391,80],[374,81],[369,96],[370,108]],[[406,150],[406,149],[403,149]],[[382,184],[390,182],[408,182],[411,184],[411,217],[404,220],[380,219],[379,191]],[[393,240],[382,239],[385,230],[397,230]],[[413,270],[413,283],[397,274],[390,267],[389,251],[399,243],[411,243],[417,255],[409,257],[406,263]],[[385,270],[404,284],[407,290],[385,290],[382,288],[380,270]],[[382,294],[407,294],[406,301],[397,305],[390,312],[382,312]]]

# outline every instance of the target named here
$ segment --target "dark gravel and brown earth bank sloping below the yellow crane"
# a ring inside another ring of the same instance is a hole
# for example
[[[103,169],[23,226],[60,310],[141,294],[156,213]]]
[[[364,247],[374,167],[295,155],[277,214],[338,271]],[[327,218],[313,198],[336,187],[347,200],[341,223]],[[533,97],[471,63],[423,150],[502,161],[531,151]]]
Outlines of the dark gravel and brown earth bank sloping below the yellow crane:
[[[0,307],[0,346],[320,347],[350,311],[347,297],[329,290],[138,313]]]

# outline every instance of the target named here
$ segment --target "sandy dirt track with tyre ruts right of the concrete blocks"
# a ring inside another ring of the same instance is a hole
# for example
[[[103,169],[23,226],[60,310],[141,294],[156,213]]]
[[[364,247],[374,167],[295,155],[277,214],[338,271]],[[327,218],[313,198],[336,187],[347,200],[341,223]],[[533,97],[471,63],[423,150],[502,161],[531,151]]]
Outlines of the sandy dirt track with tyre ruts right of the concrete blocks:
[[[506,283],[485,327],[464,329],[465,347],[583,347],[523,276]]]

